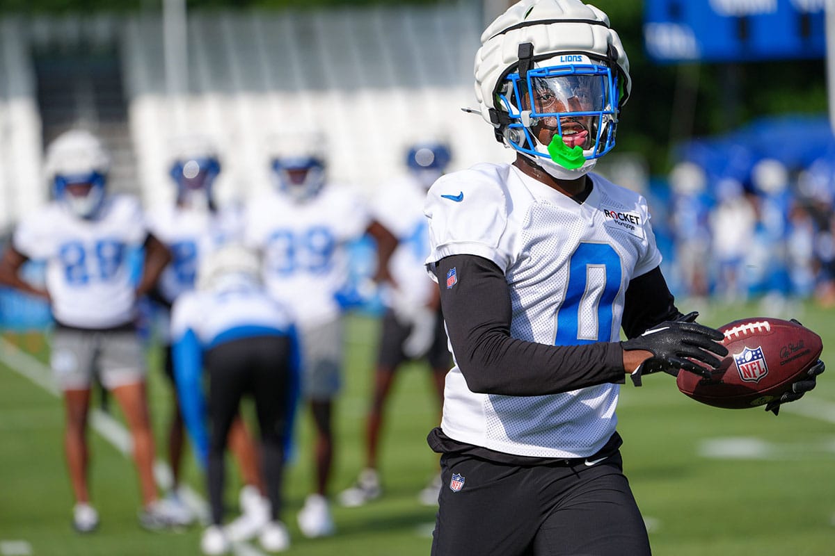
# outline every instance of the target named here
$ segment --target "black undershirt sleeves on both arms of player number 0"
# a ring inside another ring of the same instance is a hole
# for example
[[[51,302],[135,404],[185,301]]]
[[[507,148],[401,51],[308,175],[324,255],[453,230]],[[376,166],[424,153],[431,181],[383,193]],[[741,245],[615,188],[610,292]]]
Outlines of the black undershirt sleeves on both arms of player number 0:
[[[458,282],[447,288],[452,268]],[[504,273],[492,261],[453,255],[438,261],[435,273],[456,362],[473,392],[539,396],[624,382],[620,343],[554,346],[511,338],[510,291]],[[657,268],[635,278],[625,299],[630,338],[680,314]]]

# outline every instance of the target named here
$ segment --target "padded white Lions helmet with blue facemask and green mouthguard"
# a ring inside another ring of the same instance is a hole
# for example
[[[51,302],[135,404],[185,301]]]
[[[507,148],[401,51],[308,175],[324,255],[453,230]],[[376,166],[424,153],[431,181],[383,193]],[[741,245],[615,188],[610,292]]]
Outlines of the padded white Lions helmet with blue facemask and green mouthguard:
[[[554,178],[590,172],[615,146],[631,88],[608,16],[579,0],[523,0],[481,41],[475,92],[497,140]]]

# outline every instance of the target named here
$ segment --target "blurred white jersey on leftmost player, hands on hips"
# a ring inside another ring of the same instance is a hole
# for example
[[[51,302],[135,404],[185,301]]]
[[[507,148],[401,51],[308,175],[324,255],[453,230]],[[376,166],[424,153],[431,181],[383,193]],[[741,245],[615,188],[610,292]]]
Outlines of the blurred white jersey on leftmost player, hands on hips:
[[[48,203],[23,218],[14,233],[18,252],[47,262],[54,317],[79,328],[109,328],[134,318],[130,255],[147,236],[139,202],[109,195],[98,218],[78,218]]]

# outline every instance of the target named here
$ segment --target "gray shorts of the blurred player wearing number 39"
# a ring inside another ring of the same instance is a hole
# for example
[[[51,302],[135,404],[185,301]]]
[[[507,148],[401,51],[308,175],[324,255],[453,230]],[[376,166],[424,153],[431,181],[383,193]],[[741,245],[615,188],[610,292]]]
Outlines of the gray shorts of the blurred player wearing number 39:
[[[342,319],[299,329],[301,393],[324,401],[335,398],[342,386]]]

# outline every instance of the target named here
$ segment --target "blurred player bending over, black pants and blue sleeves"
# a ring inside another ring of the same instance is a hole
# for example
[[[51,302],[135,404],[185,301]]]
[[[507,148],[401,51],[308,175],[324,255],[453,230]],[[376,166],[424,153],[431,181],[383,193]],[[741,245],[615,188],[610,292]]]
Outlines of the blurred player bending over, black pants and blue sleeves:
[[[230,531],[222,528],[226,440],[240,399],[252,394],[261,433],[262,468],[269,519],[257,532],[268,551],[286,550],[290,537],[281,522],[284,451],[298,383],[296,332],[286,309],[266,293],[251,250],[231,243],[200,264],[196,291],[177,299],[172,314],[175,373],[189,430],[208,461],[211,525],[200,546],[225,553]],[[209,378],[209,432],[200,395],[202,372]]]

